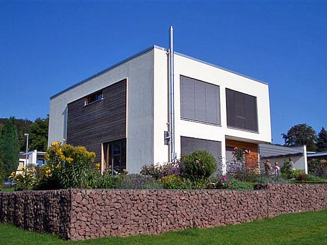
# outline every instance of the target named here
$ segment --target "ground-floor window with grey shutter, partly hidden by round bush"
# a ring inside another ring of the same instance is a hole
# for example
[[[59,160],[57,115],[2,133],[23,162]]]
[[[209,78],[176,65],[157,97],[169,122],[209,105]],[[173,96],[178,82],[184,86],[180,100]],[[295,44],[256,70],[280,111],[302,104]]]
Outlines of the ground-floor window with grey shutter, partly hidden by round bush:
[[[215,140],[180,137],[181,155],[191,154],[196,150],[205,150],[213,154],[217,163],[221,162],[221,142]]]

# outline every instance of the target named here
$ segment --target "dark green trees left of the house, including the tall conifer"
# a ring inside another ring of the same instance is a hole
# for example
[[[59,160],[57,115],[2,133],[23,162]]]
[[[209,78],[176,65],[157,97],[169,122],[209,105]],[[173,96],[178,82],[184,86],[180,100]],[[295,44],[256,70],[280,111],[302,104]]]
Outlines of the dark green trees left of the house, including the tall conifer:
[[[46,151],[48,148],[49,116],[28,119],[0,118],[0,186],[4,177],[18,166],[19,152],[26,152],[25,133],[29,134],[29,149]]]

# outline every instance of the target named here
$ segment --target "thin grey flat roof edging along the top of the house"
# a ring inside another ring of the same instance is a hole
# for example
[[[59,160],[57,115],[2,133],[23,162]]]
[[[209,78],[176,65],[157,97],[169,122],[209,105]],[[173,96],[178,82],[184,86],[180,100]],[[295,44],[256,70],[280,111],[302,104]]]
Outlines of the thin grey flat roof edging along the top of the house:
[[[82,81],[80,81],[80,82],[78,82],[78,83],[76,83],[76,84],[73,84],[72,86],[69,86],[69,87],[65,88],[64,90],[62,90],[62,91],[60,91],[60,92],[58,92],[58,93],[52,95],[52,96],[50,97],[50,100],[54,99],[54,98],[57,97],[58,95],[60,95],[60,94],[62,94],[62,93],[64,93],[64,92],[66,92],[66,91],[68,91],[68,90],[71,90],[72,88],[75,88],[75,87],[77,87],[77,86],[79,86],[79,85],[81,85],[81,84],[87,82],[87,81],[90,80],[90,79],[96,78],[96,77],[98,77],[98,76],[104,74],[105,72],[107,72],[107,71],[109,71],[109,70],[111,70],[111,69],[113,69],[113,68],[115,68],[115,67],[117,67],[117,66],[119,66],[119,65],[121,65],[121,64],[123,64],[123,63],[125,63],[125,62],[127,62],[127,61],[130,61],[131,59],[134,59],[134,58],[136,58],[136,57],[138,57],[138,56],[140,56],[140,55],[143,55],[143,54],[149,52],[150,50],[153,50],[154,48],[158,48],[159,50],[163,50],[163,51],[168,51],[167,48],[165,48],[165,47],[160,47],[160,46],[157,46],[157,45],[153,45],[153,46],[151,46],[151,47],[148,47],[148,48],[146,48],[145,50],[143,50],[143,51],[141,51],[141,52],[139,52],[139,53],[137,53],[137,54],[135,54],[135,55],[132,55],[132,56],[130,56],[130,57],[128,57],[128,58],[126,58],[126,59],[124,59],[124,60],[118,62],[118,63],[115,63],[114,65],[111,65],[111,66],[109,66],[109,67],[107,67],[107,68],[105,68],[105,69],[103,69],[103,70],[97,72],[95,75],[92,75],[92,76],[90,76],[90,77],[88,77],[88,78],[86,78],[86,79],[83,79]],[[178,52],[174,52],[174,54],[175,54],[175,55],[182,56],[182,57],[185,57],[185,58],[188,58],[188,59],[191,59],[191,60],[194,60],[194,61],[197,61],[197,62],[200,62],[200,63],[203,63],[203,64],[206,64],[206,65],[210,65],[210,66],[213,66],[213,67],[216,67],[216,68],[219,68],[219,69],[222,69],[222,70],[228,71],[228,72],[231,72],[231,73],[233,73],[233,74],[239,75],[239,76],[244,77],[244,78],[247,78],[247,79],[251,79],[251,80],[256,81],[256,82],[259,82],[259,83],[263,83],[263,84],[268,85],[268,83],[265,83],[265,82],[262,82],[262,81],[260,81],[260,80],[257,80],[257,79],[254,79],[254,78],[251,78],[251,77],[248,77],[248,76],[245,76],[245,75],[239,74],[238,72],[235,72],[235,71],[232,71],[232,70],[228,70],[228,69],[223,68],[223,67],[220,67],[220,66],[218,66],[218,65],[215,65],[215,64],[212,64],[212,63],[208,63],[208,62],[202,61],[202,60],[197,59],[197,58],[193,58],[193,57],[188,56],[188,55],[184,55],[184,54],[181,54],[181,53],[178,53]]]

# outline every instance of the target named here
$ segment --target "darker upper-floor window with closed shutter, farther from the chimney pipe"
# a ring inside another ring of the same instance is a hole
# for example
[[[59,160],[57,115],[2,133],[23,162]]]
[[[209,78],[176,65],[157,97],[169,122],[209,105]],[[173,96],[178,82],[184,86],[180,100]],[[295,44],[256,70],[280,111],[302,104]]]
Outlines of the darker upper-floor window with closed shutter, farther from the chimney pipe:
[[[256,97],[226,88],[227,126],[258,132]]]

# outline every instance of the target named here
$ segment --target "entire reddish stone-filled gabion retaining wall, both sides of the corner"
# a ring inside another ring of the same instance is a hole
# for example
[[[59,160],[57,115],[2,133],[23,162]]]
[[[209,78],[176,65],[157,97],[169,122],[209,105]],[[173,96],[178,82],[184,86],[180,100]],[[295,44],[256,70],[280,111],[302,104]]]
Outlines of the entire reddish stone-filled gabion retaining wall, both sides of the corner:
[[[82,240],[160,234],[190,227],[239,224],[282,213],[324,210],[327,209],[327,185],[265,185],[254,191],[2,192],[0,201],[2,223]]]

